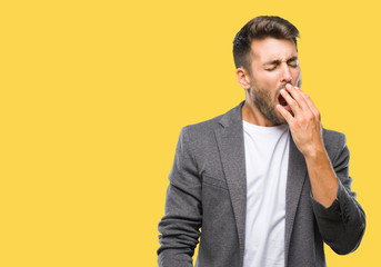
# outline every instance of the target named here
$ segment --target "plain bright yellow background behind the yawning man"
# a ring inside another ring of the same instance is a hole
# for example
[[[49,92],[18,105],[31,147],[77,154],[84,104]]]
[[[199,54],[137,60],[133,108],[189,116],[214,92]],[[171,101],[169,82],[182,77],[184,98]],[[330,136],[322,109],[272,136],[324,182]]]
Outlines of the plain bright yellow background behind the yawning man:
[[[377,266],[378,1],[2,1],[0,266],[156,266],[181,127],[243,98],[232,40],[259,14],[294,23],[303,86],[345,132]]]

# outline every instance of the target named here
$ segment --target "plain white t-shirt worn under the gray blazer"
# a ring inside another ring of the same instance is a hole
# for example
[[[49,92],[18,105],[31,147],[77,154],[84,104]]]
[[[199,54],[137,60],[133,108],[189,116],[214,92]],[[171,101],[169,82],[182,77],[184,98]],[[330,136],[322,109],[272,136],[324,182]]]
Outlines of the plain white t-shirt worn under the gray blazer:
[[[247,219],[243,267],[284,266],[289,126],[243,120]]]

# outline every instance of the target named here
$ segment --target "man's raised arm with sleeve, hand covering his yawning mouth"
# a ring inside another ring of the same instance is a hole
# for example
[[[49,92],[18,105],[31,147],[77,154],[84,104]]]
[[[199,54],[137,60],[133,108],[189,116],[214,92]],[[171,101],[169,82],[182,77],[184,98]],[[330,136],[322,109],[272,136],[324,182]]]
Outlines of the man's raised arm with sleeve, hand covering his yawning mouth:
[[[349,254],[360,244],[365,215],[351,191],[349,150],[345,138],[338,140],[337,156],[325,151],[319,110],[299,88],[287,86],[281,93],[293,116],[280,105],[279,112],[290,126],[292,138],[304,156],[311,182],[311,202],[323,240],[338,254]]]

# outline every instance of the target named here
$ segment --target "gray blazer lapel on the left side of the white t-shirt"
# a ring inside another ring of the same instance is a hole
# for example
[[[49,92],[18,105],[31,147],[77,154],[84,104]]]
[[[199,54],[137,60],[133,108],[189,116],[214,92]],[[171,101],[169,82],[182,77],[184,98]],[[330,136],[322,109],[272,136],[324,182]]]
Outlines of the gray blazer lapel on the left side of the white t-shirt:
[[[214,131],[227,185],[237,221],[241,260],[244,253],[247,179],[241,108],[243,102],[220,120],[222,128]]]

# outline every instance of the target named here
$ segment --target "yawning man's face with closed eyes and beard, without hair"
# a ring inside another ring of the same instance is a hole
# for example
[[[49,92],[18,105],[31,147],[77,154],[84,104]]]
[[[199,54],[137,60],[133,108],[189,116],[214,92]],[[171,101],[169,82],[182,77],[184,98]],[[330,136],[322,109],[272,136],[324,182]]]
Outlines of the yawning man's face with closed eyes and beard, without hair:
[[[301,86],[301,71],[295,44],[290,40],[265,38],[251,43],[250,97],[257,109],[270,121],[285,123],[277,110],[287,106],[280,90],[287,83]]]

